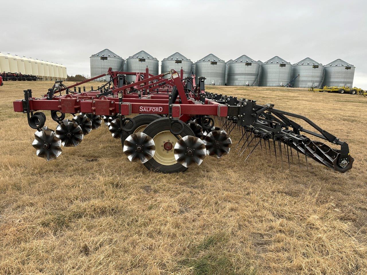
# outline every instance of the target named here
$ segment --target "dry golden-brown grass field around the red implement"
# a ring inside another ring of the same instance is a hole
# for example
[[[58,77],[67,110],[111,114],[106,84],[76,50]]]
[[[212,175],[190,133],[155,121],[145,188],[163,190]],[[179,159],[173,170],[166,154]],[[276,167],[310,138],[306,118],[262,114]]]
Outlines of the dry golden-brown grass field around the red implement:
[[[105,125],[36,157],[12,101],[51,85],[0,88],[0,274],[367,274],[367,98],[207,87],[306,115],[349,143],[354,168],[288,170],[257,149],[164,175],[129,162]]]

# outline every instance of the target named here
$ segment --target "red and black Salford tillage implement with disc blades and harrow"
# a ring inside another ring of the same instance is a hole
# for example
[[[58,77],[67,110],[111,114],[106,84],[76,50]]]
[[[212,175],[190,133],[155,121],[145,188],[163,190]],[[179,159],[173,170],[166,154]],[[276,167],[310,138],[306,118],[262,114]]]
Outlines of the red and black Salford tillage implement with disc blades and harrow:
[[[126,75],[134,75],[128,82]],[[163,76],[170,74],[169,79]],[[110,81],[93,89],[81,85],[109,75]],[[62,81],[41,98],[24,91],[14,101],[14,110],[27,114],[36,129],[33,147],[46,160],[59,157],[62,147],[78,146],[93,129],[105,124],[113,138],[120,139],[123,152],[133,162],[163,173],[182,172],[200,165],[206,156],[221,158],[235,151],[246,161],[257,149],[273,155],[276,162],[297,163],[304,156],[344,173],[353,158],[346,142],[321,129],[302,115],[259,105],[255,100],[205,92],[204,77],[183,78],[175,70],[153,76],[145,72],[116,72],[66,87]],[[46,115],[57,122],[49,129]],[[66,119],[65,114],[72,114]],[[305,123],[307,128],[301,124]],[[312,129],[312,130],[310,130]],[[232,144],[231,133],[237,133]],[[316,138],[316,140],[315,140]],[[330,143],[330,146],[326,143]],[[295,161],[294,161],[295,159]]]

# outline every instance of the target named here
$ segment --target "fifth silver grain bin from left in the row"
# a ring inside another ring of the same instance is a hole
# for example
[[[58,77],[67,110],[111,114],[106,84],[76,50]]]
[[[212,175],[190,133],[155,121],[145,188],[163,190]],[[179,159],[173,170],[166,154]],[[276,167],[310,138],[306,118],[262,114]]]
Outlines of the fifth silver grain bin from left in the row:
[[[260,64],[247,55],[241,55],[228,64],[227,85],[257,86]]]

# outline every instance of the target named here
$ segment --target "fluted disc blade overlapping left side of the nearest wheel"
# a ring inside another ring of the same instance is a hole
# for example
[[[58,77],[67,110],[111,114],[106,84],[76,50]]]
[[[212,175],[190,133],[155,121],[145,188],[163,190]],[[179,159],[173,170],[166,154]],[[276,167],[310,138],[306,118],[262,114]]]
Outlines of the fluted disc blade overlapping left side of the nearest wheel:
[[[156,151],[153,139],[143,132],[133,133],[124,141],[124,153],[130,161],[144,163]]]

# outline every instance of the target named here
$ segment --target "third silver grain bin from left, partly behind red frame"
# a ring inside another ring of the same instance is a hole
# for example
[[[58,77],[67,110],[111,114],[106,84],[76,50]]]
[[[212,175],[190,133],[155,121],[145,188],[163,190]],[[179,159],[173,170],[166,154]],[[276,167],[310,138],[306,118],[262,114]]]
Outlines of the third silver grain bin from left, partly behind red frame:
[[[174,69],[176,72],[181,72],[181,67],[183,69],[183,77],[187,77],[191,75],[192,72],[192,61],[179,52],[175,52],[174,54],[164,58],[162,60],[161,65],[161,73],[166,73],[171,69]],[[171,78],[170,74],[167,74],[163,78]]]

